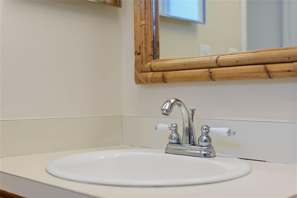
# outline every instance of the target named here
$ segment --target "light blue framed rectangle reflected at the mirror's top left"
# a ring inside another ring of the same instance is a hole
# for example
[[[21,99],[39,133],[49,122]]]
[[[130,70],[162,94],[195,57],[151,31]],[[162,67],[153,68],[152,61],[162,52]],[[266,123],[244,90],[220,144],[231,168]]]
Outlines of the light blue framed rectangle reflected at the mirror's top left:
[[[204,0],[161,0],[159,1],[159,14],[195,23],[204,23]]]

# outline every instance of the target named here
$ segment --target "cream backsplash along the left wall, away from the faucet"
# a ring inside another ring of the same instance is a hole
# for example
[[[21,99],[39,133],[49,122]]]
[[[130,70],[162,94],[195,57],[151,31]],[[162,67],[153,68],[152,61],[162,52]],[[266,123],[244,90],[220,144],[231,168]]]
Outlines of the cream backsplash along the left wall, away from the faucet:
[[[111,146],[122,142],[121,116],[2,120],[0,123],[1,157]]]

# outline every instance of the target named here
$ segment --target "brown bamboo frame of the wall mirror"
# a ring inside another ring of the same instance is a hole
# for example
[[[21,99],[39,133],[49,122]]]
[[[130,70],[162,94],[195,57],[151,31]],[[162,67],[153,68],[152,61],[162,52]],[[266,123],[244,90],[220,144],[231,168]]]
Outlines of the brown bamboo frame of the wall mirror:
[[[157,0],[134,1],[136,84],[297,76],[297,47],[159,59],[158,13]]]

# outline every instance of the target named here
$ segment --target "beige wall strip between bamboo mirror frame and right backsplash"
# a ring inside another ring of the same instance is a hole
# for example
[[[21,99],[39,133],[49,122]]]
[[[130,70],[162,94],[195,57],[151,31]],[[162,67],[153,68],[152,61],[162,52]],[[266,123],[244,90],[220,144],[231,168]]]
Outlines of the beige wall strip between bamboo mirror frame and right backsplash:
[[[282,100],[296,98],[296,78],[136,85],[133,3],[125,1],[123,9],[127,13],[123,18],[124,115],[162,116],[160,107],[174,97],[197,109],[196,118],[296,122],[296,100]],[[170,117],[181,114],[176,109]]]

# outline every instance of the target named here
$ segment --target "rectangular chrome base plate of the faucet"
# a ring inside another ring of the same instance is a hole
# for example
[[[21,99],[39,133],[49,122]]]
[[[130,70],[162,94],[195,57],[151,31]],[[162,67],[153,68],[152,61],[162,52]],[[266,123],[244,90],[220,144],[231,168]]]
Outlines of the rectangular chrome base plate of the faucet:
[[[178,155],[189,155],[194,157],[211,158],[216,156],[213,146],[194,146],[194,145],[183,145],[183,144],[167,144],[165,153],[178,154]]]

